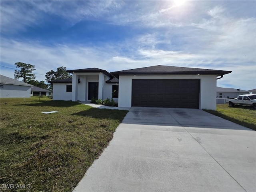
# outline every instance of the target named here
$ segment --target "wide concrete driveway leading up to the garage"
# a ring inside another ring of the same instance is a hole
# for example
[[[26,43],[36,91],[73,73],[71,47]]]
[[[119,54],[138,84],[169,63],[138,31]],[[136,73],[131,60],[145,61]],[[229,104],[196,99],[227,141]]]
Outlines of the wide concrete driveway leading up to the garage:
[[[256,132],[197,109],[132,107],[74,192],[256,191]]]

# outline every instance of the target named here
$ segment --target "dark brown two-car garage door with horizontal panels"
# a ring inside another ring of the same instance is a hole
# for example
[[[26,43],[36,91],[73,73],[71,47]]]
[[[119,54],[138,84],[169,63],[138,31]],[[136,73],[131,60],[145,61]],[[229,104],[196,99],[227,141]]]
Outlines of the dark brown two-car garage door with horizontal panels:
[[[199,108],[199,80],[133,79],[132,106]]]

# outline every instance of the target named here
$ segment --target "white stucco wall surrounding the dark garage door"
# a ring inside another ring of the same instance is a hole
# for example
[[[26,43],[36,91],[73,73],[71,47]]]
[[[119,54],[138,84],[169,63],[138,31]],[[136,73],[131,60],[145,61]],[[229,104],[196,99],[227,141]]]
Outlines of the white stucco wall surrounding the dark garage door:
[[[119,76],[119,107],[132,106],[132,79],[199,79],[199,108],[216,110],[216,75]]]

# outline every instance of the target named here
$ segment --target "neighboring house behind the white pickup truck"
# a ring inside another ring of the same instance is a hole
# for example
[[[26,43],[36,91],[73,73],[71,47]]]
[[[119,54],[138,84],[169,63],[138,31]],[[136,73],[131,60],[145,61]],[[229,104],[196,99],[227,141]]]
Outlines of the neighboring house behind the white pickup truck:
[[[233,89],[233,88],[217,87],[216,93],[217,93],[216,98],[235,98],[238,95],[249,94],[249,91]]]

